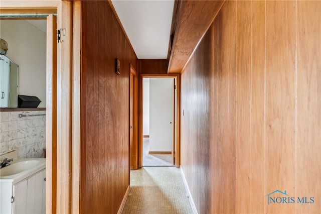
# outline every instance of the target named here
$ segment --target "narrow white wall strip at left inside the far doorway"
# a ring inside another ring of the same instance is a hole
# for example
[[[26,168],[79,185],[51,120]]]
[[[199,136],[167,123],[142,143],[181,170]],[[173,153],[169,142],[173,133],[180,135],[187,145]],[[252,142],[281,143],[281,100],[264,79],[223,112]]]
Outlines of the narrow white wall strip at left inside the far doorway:
[[[143,127],[142,134],[149,135],[149,78],[143,79]]]

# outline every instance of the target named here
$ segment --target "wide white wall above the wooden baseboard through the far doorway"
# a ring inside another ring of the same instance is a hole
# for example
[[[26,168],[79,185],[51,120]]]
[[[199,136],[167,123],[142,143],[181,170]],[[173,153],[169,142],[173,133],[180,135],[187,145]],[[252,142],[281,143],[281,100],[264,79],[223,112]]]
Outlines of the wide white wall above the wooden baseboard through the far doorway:
[[[149,151],[172,151],[173,78],[149,79]]]

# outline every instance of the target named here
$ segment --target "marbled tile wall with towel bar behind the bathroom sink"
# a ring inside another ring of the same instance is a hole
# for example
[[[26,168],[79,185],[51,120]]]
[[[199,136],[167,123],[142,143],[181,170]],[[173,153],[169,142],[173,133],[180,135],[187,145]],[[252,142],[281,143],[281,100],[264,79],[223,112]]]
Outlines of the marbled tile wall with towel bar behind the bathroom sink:
[[[46,111],[0,112],[0,153],[18,151],[19,158],[43,158],[46,148]]]

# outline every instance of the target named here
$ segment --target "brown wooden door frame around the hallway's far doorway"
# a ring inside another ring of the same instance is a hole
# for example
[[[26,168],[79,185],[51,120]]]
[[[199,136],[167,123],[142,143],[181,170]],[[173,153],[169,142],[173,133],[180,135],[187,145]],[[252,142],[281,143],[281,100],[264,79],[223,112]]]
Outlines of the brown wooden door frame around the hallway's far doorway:
[[[181,127],[181,118],[180,118],[180,109],[181,109],[181,74],[180,73],[170,73],[170,74],[140,74],[139,75],[139,82],[138,82],[138,168],[142,167],[142,142],[143,142],[143,129],[142,129],[142,117],[143,117],[143,78],[148,77],[176,77],[176,94],[177,94],[177,105],[176,108],[176,124],[174,126],[176,127],[176,133],[174,133],[174,141],[176,140],[176,151],[175,151],[175,165],[177,168],[180,167],[181,164],[181,133],[180,133],[180,127]]]

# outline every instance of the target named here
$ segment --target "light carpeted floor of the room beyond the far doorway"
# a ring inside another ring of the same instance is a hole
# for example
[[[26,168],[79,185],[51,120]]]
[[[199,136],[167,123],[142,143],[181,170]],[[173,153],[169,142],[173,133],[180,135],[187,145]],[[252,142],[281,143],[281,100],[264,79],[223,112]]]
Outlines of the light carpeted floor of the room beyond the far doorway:
[[[171,154],[149,155],[149,138],[143,138],[142,166],[175,166]]]

